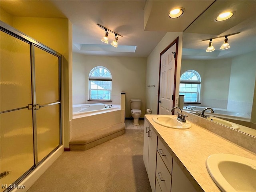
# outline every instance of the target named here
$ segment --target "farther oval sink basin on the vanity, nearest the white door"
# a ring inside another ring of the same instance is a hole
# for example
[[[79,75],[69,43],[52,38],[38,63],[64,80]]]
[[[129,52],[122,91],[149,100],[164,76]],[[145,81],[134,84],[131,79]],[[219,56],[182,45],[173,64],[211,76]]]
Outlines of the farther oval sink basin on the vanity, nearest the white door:
[[[189,129],[191,124],[186,122],[180,122],[176,119],[176,116],[171,115],[156,115],[153,117],[153,121],[165,127],[174,129]]]

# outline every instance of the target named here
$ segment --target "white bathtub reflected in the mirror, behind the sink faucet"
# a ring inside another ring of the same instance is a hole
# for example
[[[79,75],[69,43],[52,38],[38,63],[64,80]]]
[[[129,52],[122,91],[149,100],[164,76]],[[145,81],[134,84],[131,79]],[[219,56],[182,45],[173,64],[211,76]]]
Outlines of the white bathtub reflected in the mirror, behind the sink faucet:
[[[188,112],[192,113],[202,113],[204,108],[208,107],[203,107],[203,106],[193,106],[193,105],[188,105],[184,106],[183,110],[186,110]],[[248,114],[243,114],[243,113],[238,113],[238,112],[232,112],[226,109],[221,109],[221,108],[212,108],[214,110],[214,113],[211,113],[211,111],[208,109],[204,112],[204,114],[211,115],[211,116],[216,116],[216,117],[227,117],[227,118],[238,118],[238,119],[245,119],[245,120],[250,120],[250,116]]]

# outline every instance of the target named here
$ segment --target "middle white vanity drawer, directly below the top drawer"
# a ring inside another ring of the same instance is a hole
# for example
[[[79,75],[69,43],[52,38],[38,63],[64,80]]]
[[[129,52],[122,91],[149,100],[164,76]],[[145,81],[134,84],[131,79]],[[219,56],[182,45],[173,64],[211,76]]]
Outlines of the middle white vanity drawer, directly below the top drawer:
[[[172,176],[167,170],[162,158],[157,152],[157,160],[156,160],[156,178],[160,185],[162,192],[170,192],[171,191],[171,179]]]

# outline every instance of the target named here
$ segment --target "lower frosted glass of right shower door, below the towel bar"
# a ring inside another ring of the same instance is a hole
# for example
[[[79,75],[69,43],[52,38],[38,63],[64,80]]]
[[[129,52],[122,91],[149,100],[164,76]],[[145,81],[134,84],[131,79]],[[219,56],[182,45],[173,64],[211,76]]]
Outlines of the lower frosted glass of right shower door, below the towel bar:
[[[60,104],[36,111],[38,162],[60,144]]]

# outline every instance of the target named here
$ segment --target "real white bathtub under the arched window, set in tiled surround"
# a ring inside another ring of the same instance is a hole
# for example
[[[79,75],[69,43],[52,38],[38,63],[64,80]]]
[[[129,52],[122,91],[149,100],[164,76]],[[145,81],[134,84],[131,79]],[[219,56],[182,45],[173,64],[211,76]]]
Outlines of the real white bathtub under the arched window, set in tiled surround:
[[[73,115],[75,114],[86,114],[90,112],[103,111],[114,109],[116,106],[103,103],[94,103],[94,104],[76,104],[73,105]]]

